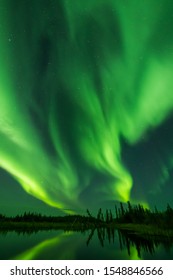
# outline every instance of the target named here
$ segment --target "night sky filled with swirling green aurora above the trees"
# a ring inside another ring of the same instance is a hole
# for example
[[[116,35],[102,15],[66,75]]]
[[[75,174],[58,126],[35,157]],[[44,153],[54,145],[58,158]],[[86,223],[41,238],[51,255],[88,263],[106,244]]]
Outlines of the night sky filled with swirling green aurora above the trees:
[[[0,167],[3,213],[173,205],[173,1],[0,0]]]

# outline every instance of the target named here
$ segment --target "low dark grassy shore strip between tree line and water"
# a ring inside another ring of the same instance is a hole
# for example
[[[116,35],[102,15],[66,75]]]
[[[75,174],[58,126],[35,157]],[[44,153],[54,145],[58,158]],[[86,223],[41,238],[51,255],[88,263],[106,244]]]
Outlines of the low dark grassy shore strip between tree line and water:
[[[120,230],[127,235],[136,235],[143,238],[147,237],[167,237],[173,238],[173,229],[159,228],[153,225],[134,224],[134,223],[81,223],[81,222],[14,222],[4,221],[0,223],[0,234],[4,232],[32,233],[38,231],[64,230],[64,231],[88,231],[88,230]]]

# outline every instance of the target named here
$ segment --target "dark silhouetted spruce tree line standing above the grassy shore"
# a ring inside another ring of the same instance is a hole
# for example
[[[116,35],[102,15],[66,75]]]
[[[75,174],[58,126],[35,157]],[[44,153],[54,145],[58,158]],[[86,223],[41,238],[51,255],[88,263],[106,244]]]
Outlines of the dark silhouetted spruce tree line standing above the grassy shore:
[[[102,210],[100,208],[96,216],[87,209],[86,215],[46,216],[38,213],[24,213],[15,217],[6,217],[0,214],[0,222],[52,222],[52,223],[92,223],[97,225],[108,224],[145,224],[156,225],[163,228],[173,228],[173,209],[168,204],[165,211],[144,208],[141,204],[132,205],[120,202],[115,209]]]

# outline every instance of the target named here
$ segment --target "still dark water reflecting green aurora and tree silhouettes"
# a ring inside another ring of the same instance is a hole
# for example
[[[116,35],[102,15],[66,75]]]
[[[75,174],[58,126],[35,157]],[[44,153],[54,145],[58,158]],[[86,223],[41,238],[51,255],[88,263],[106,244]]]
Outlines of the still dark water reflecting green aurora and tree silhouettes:
[[[170,240],[152,240],[118,230],[63,230],[0,234],[0,259],[173,259]]]

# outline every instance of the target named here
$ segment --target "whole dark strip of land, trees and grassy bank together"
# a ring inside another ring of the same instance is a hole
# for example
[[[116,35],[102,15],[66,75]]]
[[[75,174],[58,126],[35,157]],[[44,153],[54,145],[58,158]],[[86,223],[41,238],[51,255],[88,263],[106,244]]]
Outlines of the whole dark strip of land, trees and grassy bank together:
[[[141,205],[132,206],[120,203],[115,207],[115,217],[111,210],[103,214],[101,208],[97,217],[87,210],[86,216],[66,215],[48,217],[41,214],[24,213],[16,217],[0,215],[0,232],[37,232],[41,230],[86,231],[95,229],[118,229],[145,238],[173,239],[173,209],[168,205],[166,211],[152,212]]]

